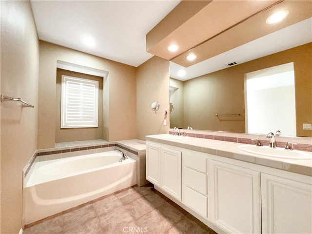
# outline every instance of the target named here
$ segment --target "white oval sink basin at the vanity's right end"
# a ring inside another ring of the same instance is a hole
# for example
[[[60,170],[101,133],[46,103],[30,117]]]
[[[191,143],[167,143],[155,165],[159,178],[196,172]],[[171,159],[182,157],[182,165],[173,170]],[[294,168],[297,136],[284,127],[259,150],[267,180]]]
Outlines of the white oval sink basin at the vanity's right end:
[[[312,159],[312,152],[297,150],[284,150],[283,148],[270,148],[269,146],[240,145],[237,149],[263,156],[272,156],[288,159]]]

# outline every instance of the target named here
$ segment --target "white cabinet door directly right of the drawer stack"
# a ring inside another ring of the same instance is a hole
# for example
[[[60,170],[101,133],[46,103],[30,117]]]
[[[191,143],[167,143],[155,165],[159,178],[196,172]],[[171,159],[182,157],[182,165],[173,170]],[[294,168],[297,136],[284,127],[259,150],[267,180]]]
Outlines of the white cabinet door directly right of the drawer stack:
[[[227,233],[261,233],[260,172],[209,161],[208,215]]]

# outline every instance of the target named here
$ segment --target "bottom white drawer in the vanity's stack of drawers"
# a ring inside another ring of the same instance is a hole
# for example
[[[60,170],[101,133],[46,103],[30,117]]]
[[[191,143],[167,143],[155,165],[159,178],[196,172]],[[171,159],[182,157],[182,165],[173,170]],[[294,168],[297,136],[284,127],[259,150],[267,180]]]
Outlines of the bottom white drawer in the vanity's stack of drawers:
[[[182,202],[192,208],[195,212],[207,217],[207,196],[201,195],[187,186],[183,186]]]

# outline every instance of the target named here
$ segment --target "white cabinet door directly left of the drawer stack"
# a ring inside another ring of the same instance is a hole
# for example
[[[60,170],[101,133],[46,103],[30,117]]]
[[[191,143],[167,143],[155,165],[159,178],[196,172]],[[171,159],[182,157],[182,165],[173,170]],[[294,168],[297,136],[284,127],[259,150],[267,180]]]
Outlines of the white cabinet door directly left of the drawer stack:
[[[161,188],[181,201],[181,152],[161,148]]]

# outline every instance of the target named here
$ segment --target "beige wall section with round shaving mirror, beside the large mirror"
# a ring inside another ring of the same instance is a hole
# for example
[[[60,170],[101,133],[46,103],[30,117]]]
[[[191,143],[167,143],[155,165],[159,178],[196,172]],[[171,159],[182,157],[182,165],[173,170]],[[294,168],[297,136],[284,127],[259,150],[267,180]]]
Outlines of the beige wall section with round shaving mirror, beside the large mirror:
[[[157,114],[151,110],[155,100],[160,103]],[[154,56],[137,67],[137,139],[168,133],[169,126],[169,61]]]

